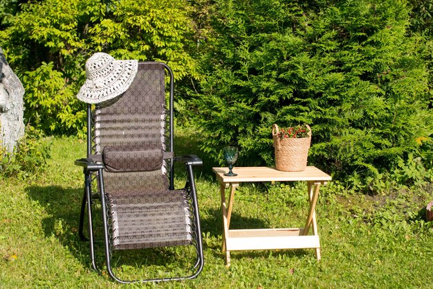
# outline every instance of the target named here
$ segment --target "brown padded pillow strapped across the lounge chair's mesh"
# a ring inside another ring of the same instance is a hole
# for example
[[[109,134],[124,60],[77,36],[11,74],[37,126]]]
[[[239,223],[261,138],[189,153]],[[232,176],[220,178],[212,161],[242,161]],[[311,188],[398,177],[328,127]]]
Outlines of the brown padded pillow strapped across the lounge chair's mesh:
[[[111,173],[158,170],[163,166],[163,150],[133,146],[105,146],[102,160],[105,170]]]

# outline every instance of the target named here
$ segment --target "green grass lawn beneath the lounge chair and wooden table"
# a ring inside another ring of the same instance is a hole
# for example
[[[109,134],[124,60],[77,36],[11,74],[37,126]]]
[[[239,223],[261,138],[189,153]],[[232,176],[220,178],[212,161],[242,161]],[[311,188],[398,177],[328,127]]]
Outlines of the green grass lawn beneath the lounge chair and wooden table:
[[[32,181],[0,180],[0,288],[433,288],[433,229],[423,220],[432,187],[368,196],[331,182],[316,209],[321,261],[313,249],[232,252],[226,268],[219,188],[209,163],[196,173],[202,274],[191,281],[120,285],[90,269],[89,246],[77,236],[83,180],[73,161],[84,157],[85,143],[52,141],[44,173]],[[176,183],[183,183],[181,174]],[[303,183],[241,186],[232,227],[302,227],[305,192]],[[165,263],[160,258],[156,263]]]

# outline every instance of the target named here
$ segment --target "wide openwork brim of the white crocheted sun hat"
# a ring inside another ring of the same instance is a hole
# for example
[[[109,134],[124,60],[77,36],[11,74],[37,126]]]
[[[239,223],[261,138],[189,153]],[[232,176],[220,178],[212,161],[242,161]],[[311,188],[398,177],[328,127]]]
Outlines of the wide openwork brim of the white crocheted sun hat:
[[[84,103],[102,103],[127,91],[137,74],[137,60],[114,60],[114,68],[102,79],[86,79],[77,94]]]

